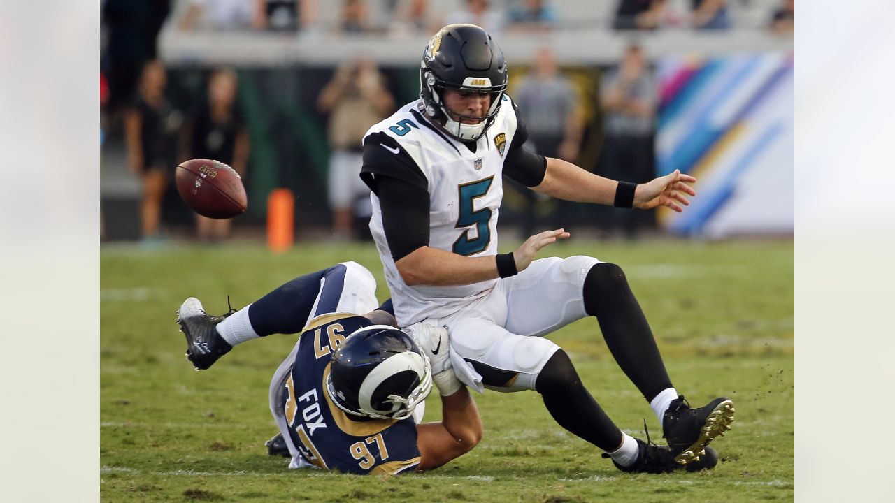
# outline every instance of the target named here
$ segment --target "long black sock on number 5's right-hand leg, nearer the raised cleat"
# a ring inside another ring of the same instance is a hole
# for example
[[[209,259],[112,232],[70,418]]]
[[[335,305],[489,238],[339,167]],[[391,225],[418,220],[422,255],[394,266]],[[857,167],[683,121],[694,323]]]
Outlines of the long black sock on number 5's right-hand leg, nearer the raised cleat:
[[[616,264],[597,264],[588,271],[584,310],[597,317],[609,351],[647,402],[671,388],[650,324]]]

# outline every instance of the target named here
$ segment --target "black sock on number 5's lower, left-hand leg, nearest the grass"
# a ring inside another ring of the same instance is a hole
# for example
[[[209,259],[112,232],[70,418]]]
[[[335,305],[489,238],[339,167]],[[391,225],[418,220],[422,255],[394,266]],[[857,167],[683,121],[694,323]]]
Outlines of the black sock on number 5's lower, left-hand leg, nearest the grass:
[[[607,452],[621,445],[622,432],[581,384],[565,351],[559,349],[550,357],[534,388],[553,419],[566,430]]]

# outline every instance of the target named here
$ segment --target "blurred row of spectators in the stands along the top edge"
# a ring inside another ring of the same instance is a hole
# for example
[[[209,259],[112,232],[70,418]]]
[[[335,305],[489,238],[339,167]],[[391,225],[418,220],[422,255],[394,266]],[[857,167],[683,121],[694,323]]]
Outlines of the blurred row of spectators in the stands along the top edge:
[[[576,3],[582,2],[592,6],[589,9],[592,14],[585,19],[564,15],[563,4],[573,3],[568,0],[342,0],[337,18],[325,19],[319,13],[322,0],[183,0],[185,14],[179,27],[182,30],[404,34],[429,33],[445,24],[472,22],[490,32],[568,27],[600,29],[609,24],[615,30],[725,30],[736,24],[737,11],[754,4],[754,0],[578,0]],[[782,1],[768,13],[771,30],[791,32],[793,4],[791,0]]]

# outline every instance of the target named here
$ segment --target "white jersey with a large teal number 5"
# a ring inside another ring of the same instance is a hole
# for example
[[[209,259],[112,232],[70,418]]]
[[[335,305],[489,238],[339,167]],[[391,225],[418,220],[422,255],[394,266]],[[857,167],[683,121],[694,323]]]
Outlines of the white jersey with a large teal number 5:
[[[388,144],[396,146],[379,147],[395,155],[396,162],[412,161],[425,177],[430,194],[430,247],[467,257],[497,254],[503,165],[517,126],[512,100],[506,94],[503,99],[494,124],[476,141],[475,152],[431,124],[420,111],[422,99],[372,126],[364,136],[366,144],[371,134],[379,138],[388,135],[394,140]],[[494,287],[493,279],[459,286],[408,286],[388,248],[379,198],[371,194],[371,201],[370,230],[402,326],[448,316]]]

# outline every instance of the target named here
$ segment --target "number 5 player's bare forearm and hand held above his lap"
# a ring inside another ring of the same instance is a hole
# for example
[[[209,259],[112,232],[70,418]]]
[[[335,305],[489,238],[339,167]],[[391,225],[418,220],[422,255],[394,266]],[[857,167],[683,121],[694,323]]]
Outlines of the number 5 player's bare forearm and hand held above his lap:
[[[558,229],[528,238],[512,254],[516,272],[527,268],[541,248],[568,236],[565,230]],[[438,248],[421,246],[397,260],[395,267],[407,285],[472,285],[500,277],[499,257],[464,257]]]

